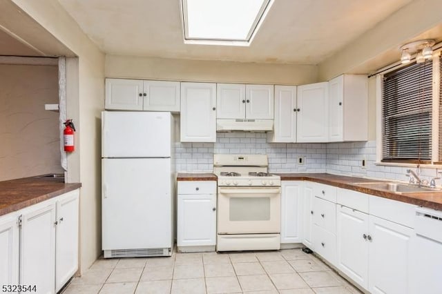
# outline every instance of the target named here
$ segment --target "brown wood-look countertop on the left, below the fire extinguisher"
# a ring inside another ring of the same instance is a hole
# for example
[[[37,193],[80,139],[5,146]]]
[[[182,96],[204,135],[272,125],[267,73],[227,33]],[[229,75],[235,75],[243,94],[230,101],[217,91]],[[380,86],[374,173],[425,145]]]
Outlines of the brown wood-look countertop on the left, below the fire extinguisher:
[[[63,178],[26,177],[0,182],[0,216],[80,188]]]

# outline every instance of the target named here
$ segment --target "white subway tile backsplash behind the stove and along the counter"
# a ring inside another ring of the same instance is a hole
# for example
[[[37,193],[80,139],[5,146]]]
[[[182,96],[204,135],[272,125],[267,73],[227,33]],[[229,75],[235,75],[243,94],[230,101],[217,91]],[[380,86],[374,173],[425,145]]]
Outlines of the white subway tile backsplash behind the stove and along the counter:
[[[273,173],[332,173],[407,181],[408,167],[376,165],[376,141],[345,143],[267,143],[265,133],[217,133],[215,143],[176,143],[178,172],[213,171],[213,154],[267,154]],[[298,163],[302,158],[303,164]],[[365,166],[362,166],[363,160]],[[416,170],[416,168],[412,168]],[[440,169],[421,168],[423,179]],[[436,182],[442,184],[441,180]]]

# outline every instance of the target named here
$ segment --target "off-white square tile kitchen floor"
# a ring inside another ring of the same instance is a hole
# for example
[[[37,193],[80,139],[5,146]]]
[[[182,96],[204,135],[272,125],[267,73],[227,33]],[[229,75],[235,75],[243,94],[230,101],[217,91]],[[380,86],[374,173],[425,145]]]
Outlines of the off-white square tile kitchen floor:
[[[64,294],[361,293],[300,249],[98,259]]]

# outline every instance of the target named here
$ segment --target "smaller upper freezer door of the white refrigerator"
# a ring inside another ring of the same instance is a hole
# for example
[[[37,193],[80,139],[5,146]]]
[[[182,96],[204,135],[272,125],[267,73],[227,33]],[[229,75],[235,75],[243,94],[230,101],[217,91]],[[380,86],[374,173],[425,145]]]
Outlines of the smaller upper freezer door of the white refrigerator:
[[[171,157],[170,112],[102,112],[102,157]]]

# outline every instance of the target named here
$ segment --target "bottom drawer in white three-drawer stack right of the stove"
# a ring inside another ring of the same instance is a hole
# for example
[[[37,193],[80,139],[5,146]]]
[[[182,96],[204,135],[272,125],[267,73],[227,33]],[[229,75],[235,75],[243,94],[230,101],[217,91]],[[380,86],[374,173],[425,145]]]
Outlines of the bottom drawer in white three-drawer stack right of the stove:
[[[313,226],[313,234],[316,253],[336,265],[336,235],[316,224]]]

